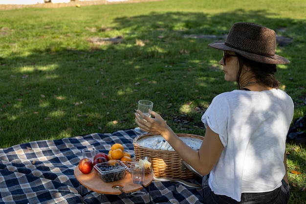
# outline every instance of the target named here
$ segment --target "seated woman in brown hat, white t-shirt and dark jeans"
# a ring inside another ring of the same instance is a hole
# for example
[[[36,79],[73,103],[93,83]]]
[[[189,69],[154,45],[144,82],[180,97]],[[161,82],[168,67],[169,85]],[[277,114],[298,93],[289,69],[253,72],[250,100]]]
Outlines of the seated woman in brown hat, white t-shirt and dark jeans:
[[[287,204],[289,181],[285,140],[293,101],[274,78],[276,64],[290,63],[275,54],[274,30],[235,23],[219,64],[224,79],[238,89],[217,95],[202,116],[206,133],[200,149],[182,142],[163,118],[135,113],[141,130],[163,136],[177,154],[203,177],[205,204]]]

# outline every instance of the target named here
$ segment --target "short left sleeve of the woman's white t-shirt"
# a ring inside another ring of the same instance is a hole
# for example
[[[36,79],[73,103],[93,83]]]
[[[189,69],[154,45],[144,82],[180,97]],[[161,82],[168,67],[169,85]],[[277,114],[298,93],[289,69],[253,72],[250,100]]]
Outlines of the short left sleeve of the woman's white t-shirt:
[[[222,94],[216,96],[202,116],[202,122],[219,135],[224,147],[227,145],[228,103]]]

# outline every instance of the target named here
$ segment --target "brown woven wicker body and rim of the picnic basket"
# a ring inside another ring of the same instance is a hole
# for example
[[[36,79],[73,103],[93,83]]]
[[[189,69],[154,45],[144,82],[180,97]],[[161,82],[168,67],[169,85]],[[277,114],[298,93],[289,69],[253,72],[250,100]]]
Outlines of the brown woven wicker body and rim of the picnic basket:
[[[203,136],[176,133],[177,136],[193,137],[203,140]],[[133,139],[134,152],[136,160],[150,157],[151,164],[155,177],[170,177],[172,179],[192,179],[196,174],[190,171],[183,164],[181,159],[175,151],[152,149],[140,146],[137,141],[146,137],[156,136],[156,134],[145,134],[136,136]]]

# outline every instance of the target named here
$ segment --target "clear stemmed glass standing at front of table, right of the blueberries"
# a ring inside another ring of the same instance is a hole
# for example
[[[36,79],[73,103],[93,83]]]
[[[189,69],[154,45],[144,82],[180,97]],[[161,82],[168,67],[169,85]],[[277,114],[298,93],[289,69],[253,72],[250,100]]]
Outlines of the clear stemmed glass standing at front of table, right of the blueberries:
[[[143,165],[140,166],[138,163],[131,163],[130,169],[132,182],[142,185],[145,180],[145,167]],[[141,196],[144,194],[146,193],[140,190],[131,193],[132,196]]]

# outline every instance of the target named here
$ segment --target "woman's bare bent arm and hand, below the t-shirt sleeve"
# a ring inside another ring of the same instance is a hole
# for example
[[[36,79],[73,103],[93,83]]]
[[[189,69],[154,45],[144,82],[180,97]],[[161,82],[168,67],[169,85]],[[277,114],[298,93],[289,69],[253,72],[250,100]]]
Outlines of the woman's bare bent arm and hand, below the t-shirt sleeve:
[[[178,136],[176,136],[173,130],[159,114],[152,111],[154,118],[151,118],[144,115],[139,110],[136,112],[135,119],[141,130],[163,136],[164,139],[166,139],[173,147],[178,156],[200,174],[209,174],[216,165],[223,150],[223,145],[220,141],[219,135],[213,132],[209,127],[206,129],[201,147],[197,151],[189,147]],[[140,114],[140,116],[146,121],[142,120],[138,114]]]

